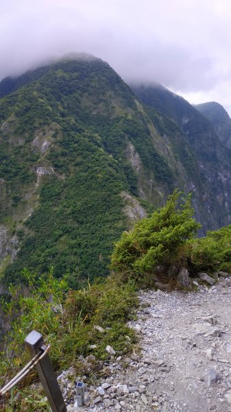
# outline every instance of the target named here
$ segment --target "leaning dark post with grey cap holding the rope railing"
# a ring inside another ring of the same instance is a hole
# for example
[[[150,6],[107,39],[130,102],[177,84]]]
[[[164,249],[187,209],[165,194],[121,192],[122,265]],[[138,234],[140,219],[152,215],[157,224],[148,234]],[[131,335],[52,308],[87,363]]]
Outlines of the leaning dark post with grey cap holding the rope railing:
[[[33,330],[26,337],[25,344],[27,345],[32,358],[34,358],[40,350],[45,350],[47,347],[43,341],[42,335],[36,332],[36,330]],[[58,380],[48,354],[42,358],[38,365],[36,365],[36,370],[52,412],[66,412],[66,405],[62,398]]]

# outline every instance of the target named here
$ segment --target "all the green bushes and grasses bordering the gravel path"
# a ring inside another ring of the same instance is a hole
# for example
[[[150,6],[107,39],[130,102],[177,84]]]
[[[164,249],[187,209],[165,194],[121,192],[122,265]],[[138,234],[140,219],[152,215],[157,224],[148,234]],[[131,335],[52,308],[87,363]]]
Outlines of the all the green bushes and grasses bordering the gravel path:
[[[1,341],[0,387],[28,360],[23,342],[33,329],[51,344],[56,371],[73,366],[89,379],[102,373],[98,361],[109,358],[107,345],[117,354],[130,352],[136,336],[127,321],[134,317],[138,305],[136,291],[140,286],[150,286],[156,266],[169,268],[176,264],[188,268],[191,276],[199,271],[231,271],[231,226],[211,231],[206,238],[196,238],[200,225],[193,214],[191,196],[184,197],[175,190],[164,207],[136,222],[130,233],[122,234],[112,254],[114,273],[86,288],[69,289],[68,276],[58,280],[53,277],[53,269],[48,277],[39,279],[23,271],[24,286],[11,285],[9,295],[2,301],[5,323],[11,327]],[[104,332],[95,325],[104,328]],[[78,359],[89,354],[96,359],[94,371],[90,372],[81,369],[84,364],[80,365]],[[31,378],[24,385],[29,382]],[[19,401],[22,411],[34,410],[29,409],[29,402],[33,402],[28,398],[29,390],[25,389],[26,396]],[[46,410],[41,402],[40,408]]]

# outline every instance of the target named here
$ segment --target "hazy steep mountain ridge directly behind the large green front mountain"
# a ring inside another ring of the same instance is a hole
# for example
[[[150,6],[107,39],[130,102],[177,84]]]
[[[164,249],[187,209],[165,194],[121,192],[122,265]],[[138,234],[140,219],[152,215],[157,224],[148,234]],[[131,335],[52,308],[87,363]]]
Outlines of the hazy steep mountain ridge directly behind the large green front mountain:
[[[197,194],[197,218],[206,229],[221,227],[230,223],[230,150],[228,150],[208,119],[183,98],[165,89],[162,85],[132,85],[146,107],[154,108],[167,117],[179,130],[184,147],[193,154],[194,168],[191,172],[192,190]],[[161,134],[161,130],[159,130]],[[172,135],[169,135],[172,138]],[[179,150],[179,149],[178,149]],[[183,148],[182,148],[183,150]],[[181,161],[183,156],[181,157]],[[189,158],[187,174],[192,161]],[[194,176],[194,177],[193,177]],[[204,211],[200,214],[199,198],[207,209],[208,220]]]

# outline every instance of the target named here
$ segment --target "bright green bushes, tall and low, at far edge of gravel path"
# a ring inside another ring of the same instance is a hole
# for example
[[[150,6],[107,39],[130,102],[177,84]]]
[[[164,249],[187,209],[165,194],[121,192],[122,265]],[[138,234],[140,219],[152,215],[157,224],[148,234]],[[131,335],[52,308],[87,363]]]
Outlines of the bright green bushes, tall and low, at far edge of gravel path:
[[[191,276],[208,271],[231,271],[231,225],[196,238],[191,195],[182,198],[175,190],[164,207],[139,220],[115,244],[111,268],[124,281],[136,279],[141,286],[154,284],[156,266],[174,264],[187,268]]]

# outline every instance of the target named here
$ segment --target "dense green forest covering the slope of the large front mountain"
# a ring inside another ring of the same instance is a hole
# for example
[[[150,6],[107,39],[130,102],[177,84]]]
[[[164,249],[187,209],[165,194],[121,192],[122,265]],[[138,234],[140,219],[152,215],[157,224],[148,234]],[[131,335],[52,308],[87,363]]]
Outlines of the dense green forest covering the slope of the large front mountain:
[[[21,233],[4,282],[21,282],[25,267],[40,276],[51,265],[74,288],[108,275],[112,245],[127,227],[120,194],[138,195],[128,141],[151,179],[172,185],[133,93],[101,60],[76,59],[5,81],[0,95],[1,220],[11,216]],[[42,135],[51,143],[45,153],[34,144]],[[38,180],[40,166],[54,174]]]

